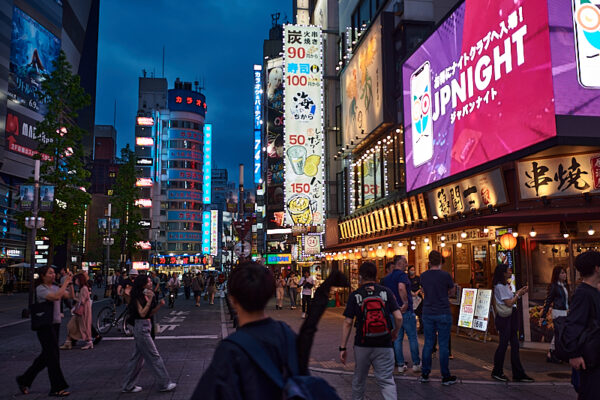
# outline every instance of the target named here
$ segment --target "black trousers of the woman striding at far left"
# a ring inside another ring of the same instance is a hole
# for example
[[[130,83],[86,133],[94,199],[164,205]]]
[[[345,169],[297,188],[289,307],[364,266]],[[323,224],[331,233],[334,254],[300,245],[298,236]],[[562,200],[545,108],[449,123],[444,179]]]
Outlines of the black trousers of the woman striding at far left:
[[[20,385],[31,387],[35,377],[44,368],[48,368],[50,392],[60,392],[69,387],[60,369],[60,350],[58,349],[58,332],[60,324],[53,324],[37,331],[38,340],[42,345],[42,354],[34,361],[25,373],[17,377]]]

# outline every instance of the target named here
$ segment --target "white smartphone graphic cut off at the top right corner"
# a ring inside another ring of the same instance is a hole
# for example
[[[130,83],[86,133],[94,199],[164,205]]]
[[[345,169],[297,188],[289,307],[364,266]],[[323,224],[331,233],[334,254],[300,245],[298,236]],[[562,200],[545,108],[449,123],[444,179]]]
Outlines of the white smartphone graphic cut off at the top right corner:
[[[600,89],[600,0],[573,0],[573,24],[579,83]]]

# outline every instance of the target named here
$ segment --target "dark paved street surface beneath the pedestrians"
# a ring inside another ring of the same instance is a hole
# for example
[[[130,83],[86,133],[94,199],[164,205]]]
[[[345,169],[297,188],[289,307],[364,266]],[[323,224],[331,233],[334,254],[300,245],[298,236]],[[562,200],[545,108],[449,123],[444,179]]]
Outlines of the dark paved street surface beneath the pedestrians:
[[[39,352],[39,344],[29,323],[18,323],[20,308],[18,300],[25,301],[23,294],[0,297],[0,385],[4,398],[41,399],[47,397],[49,387],[46,372],[42,372],[31,388],[31,394],[22,396],[14,377],[24,371]],[[108,304],[100,299],[94,304],[94,314]],[[288,322],[295,330],[302,323],[301,311],[284,309],[274,311],[269,305],[269,315]],[[16,312],[18,310],[18,313]],[[351,398],[353,355],[344,366],[337,358],[337,346],[341,334],[342,308],[330,308],[325,312],[312,349],[311,370],[314,375],[327,379],[343,399]],[[10,321],[12,318],[12,321]],[[233,332],[226,307],[219,301],[214,306],[203,302],[200,308],[192,300],[185,300],[181,293],[174,309],[164,307],[159,312],[162,333],[157,337],[158,349],[165,360],[172,379],[177,382],[173,393],[159,393],[150,371],[145,367],[139,384],[144,388],[138,394],[121,394],[120,384],[125,364],[133,350],[133,341],[113,329],[93,350],[74,348],[61,352],[61,365],[67,382],[71,385],[73,399],[188,399],[198,379],[210,363],[212,354],[223,335]],[[63,331],[66,320],[63,322]],[[63,333],[64,334],[64,333]],[[420,337],[420,339],[422,339]],[[574,399],[569,383],[569,370],[564,365],[548,364],[542,351],[522,350],[521,357],[528,373],[536,379],[533,384],[502,384],[490,379],[490,361],[495,343],[483,344],[454,336],[452,339],[455,359],[451,369],[460,383],[452,387],[440,385],[437,360],[434,359],[432,382],[417,382],[417,374],[409,369],[404,375],[396,374],[398,396],[401,399]],[[408,355],[405,341],[405,354]],[[407,361],[410,361],[407,359]],[[509,372],[509,362],[506,363]],[[367,386],[368,399],[380,399],[378,387],[371,377]]]

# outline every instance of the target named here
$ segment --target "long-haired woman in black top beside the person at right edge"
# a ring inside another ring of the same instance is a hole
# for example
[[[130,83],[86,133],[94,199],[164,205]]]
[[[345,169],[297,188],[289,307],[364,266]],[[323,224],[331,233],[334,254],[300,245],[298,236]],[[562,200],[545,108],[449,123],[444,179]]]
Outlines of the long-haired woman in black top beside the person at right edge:
[[[540,318],[540,325],[546,322],[548,310],[552,307],[552,322],[554,323],[555,335],[550,342],[550,349],[546,354],[546,361],[559,364],[561,361],[554,355],[554,341],[556,339],[556,331],[561,324],[564,323],[569,311],[569,287],[567,282],[567,271],[560,266],[554,267],[552,270],[552,278],[548,285],[548,296],[544,302],[544,311]]]

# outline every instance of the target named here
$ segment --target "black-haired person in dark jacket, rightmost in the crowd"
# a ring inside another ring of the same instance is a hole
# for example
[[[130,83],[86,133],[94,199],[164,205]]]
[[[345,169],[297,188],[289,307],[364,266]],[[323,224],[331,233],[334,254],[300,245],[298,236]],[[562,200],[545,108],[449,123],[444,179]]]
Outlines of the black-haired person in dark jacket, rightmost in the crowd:
[[[586,251],[577,256],[575,267],[583,281],[575,290],[561,343],[569,355],[569,363],[579,371],[579,400],[597,399],[600,392],[600,366],[590,367],[585,360],[592,356],[585,354],[579,345],[579,337],[596,319],[600,322],[600,253]]]

